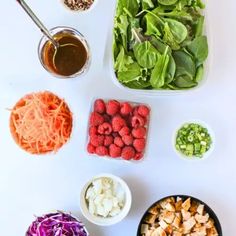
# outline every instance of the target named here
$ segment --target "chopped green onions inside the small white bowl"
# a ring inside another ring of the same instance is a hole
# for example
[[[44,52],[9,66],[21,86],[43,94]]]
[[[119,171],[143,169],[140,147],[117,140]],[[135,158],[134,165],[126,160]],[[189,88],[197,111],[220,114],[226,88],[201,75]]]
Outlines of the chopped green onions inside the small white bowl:
[[[185,124],[177,132],[176,149],[186,157],[202,158],[210,149],[211,136],[206,128],[199,124]]]

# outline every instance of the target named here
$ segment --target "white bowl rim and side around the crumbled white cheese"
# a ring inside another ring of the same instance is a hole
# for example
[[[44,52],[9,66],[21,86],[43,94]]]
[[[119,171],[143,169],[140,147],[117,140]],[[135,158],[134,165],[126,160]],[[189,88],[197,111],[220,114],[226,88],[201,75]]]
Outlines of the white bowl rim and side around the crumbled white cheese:
[[[101,177],[111,178],[112,180],[118,182],[125,191],[125,205],[124,205],[123,209],[121,210],[121,212],[116,216],[107,217],[107,218],[94,216],[88,210],[88,205],[85,200],[86,191],[87,191],[89,185],[95,179],[98,179]],[[88,221],[90,221],[96,225],[100,225],[100,226],[113,225],[113,224],[116,224],[116,223],[120,222],[121,220],[123,220],[128,215],[128,213],[130,211],[131,203],[132,203],[132,196],[131,196],[131,191],[130,191],[128,185],[120,177],[117,177],[112,174],[100,174],[100,175],[94,176],[90,181],[88,181],[85,184],[85,186],[83,187],[81,194],[80,194],[80,208],[81,208],[81,211],[82,211],[84,217]]]

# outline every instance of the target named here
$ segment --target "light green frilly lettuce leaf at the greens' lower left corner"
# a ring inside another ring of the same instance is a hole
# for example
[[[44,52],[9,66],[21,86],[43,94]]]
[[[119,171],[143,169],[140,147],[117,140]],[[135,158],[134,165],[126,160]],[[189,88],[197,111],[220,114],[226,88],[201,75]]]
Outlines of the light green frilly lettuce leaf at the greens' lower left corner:
[[[138,63],[134,62],[127,65],[127,71],[121,71],[117,73],[118,80],[122,83],[129,83],[131,81],[137,81],[142,76],[142,69]]]

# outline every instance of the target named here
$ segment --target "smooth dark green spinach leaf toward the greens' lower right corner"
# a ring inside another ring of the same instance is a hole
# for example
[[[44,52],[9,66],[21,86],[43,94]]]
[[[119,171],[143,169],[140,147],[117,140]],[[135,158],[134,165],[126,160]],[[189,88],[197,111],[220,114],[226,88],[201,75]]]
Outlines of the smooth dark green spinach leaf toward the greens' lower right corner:
[[[184,51],[174,51],[173,57],[176,63],[176,77],[186,74],[195,77],[196,65],[189,54]]]

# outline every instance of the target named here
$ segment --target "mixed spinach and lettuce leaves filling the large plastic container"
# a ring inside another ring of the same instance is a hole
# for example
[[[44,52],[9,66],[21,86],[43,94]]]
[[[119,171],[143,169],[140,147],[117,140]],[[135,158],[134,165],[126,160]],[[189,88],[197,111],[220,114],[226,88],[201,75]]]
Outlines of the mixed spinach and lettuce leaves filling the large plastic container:
[[[208,40],[201,0],[117,0],[115,82],[148,94],[178,93],[205,80]]]

